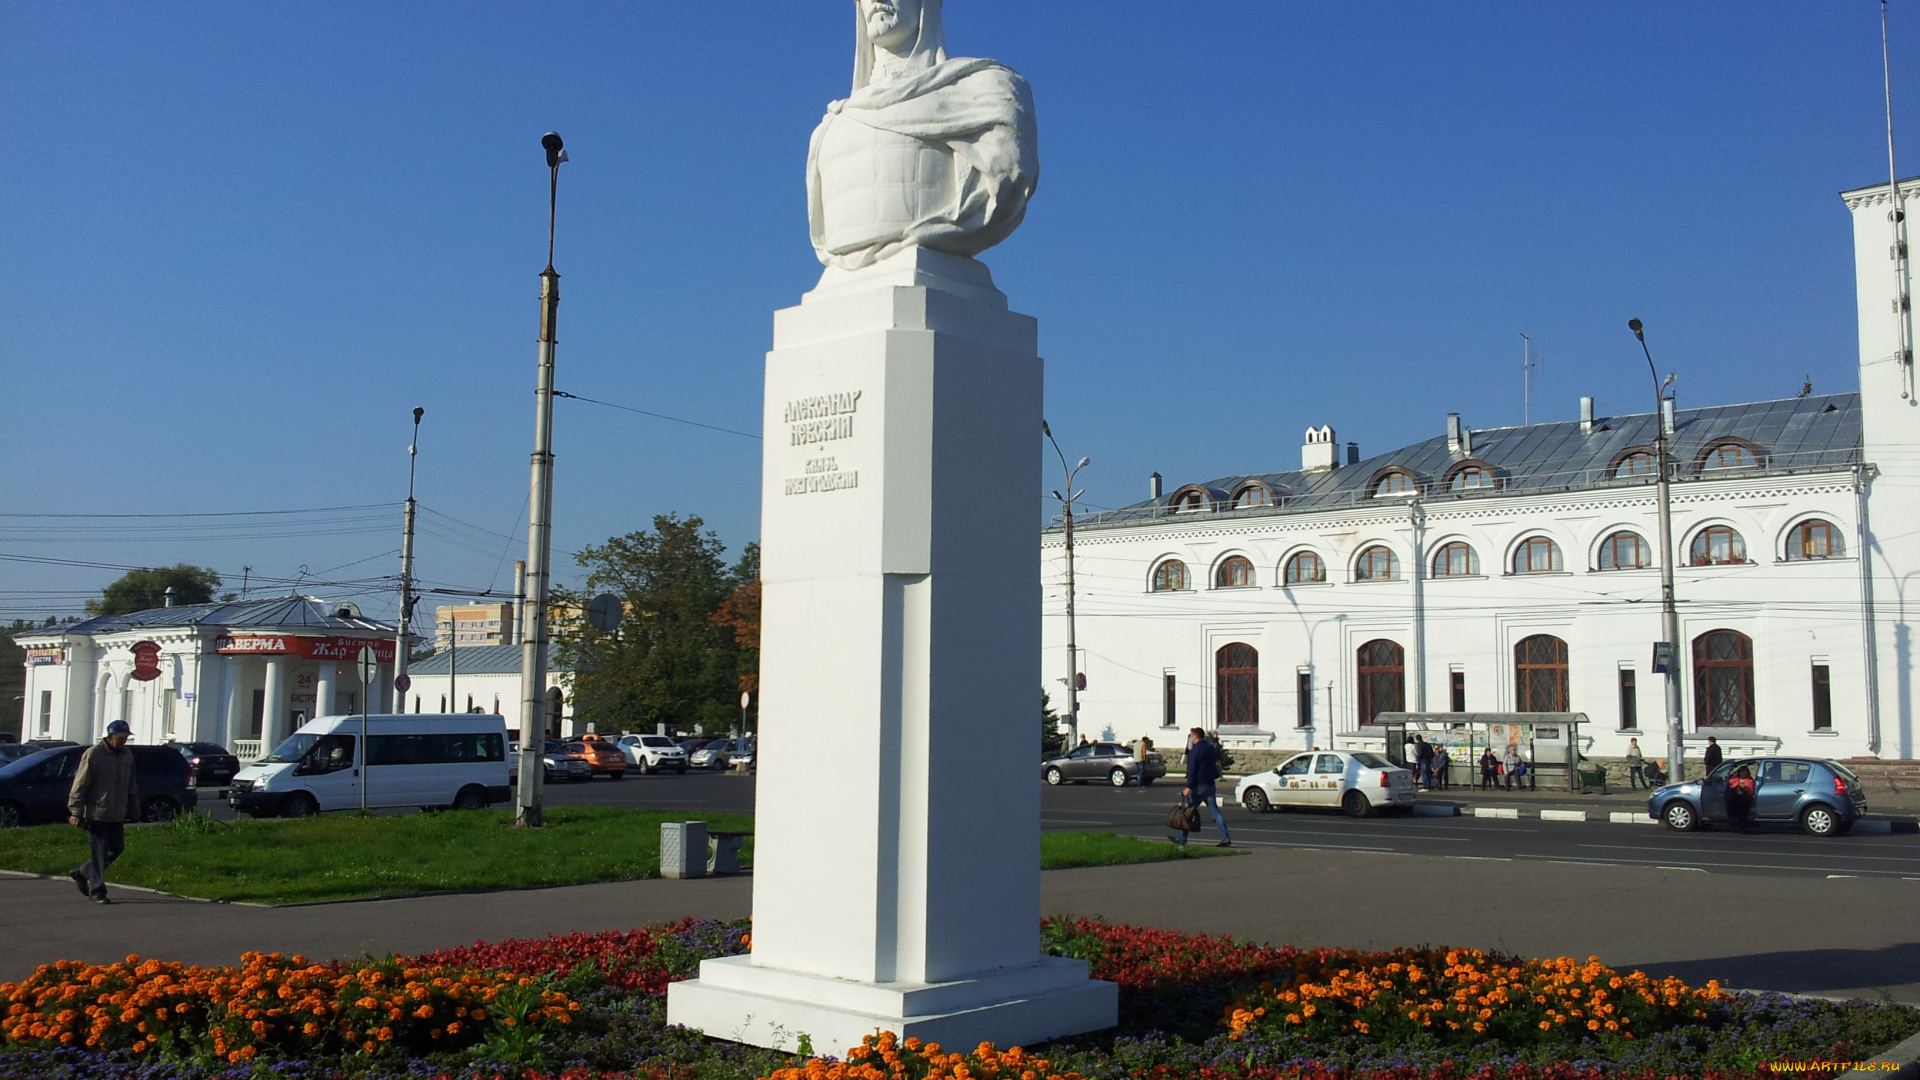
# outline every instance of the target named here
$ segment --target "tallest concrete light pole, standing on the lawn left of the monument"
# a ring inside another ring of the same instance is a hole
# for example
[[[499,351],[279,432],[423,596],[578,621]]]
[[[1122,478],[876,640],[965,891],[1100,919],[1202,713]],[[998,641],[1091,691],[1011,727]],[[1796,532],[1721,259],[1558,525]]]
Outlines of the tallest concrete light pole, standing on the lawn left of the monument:
[[[561,198],[559,133],[547,150],[547,269],[540,271],[540,377],[534,382],[534,482],[526,503],[526,625],[520,626],[520,786],[515,824],[540,828],[541,759],[547,744],[547,584],[553,557],[553,332],[561,321],[561,275],[553,271],[553,217]],[[451,705],[451,703],[449,703]]]

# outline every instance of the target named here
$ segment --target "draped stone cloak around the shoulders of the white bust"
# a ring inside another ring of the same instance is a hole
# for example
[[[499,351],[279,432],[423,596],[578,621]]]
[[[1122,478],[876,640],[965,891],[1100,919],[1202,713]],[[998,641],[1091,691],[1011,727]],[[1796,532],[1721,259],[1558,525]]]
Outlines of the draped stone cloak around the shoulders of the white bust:
[[[826,248],[820,144],[835,123],[860,123],[933,142],[952,154],[954,200],[897,238],[849,252]],[[826,265],[860,269],[912,244],[973,256],[1004,240],[1027,215],[1039,183],[1033,90],[996,60],[952,58],[908,79],[868,83],[828,106],[806,150],[806,219]]]

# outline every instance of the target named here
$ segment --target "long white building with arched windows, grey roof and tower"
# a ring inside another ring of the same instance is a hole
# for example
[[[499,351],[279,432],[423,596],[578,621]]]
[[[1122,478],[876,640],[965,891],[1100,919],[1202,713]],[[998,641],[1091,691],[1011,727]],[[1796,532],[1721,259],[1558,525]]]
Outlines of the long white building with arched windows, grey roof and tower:
[[[1578,421],[1478,430],[1448,415],[1444,434],[1367,459],[1350,444],[1344,463],[1317,427],[1300,469],[1167,496],[1156,477],[1154,498],[1077,517],[1081,732],[1167,744],[1198,724],[1294,749],[1379,738],[1367,726],[1384,711],[1578,711],[1588,755],[1640,736],[1663,757],[1649,667],[1659,561],[1674,559],[1688,757],[1707,736],[1730,753],[1916,757],[1920,398],[1889,313],[1887,186],[1845,200],[1857,394],[1665,415],[1599,415],[1584,398]],[[1041,548],[1054,684],[1062,530]]]

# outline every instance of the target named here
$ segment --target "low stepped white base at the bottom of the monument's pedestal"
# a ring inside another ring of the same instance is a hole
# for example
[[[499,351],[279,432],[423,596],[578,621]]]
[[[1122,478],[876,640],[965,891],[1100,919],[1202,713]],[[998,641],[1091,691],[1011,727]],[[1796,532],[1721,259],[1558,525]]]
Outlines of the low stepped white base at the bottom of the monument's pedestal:
[[[883,1030],[970,1051],[981,1042],[1004,1049],[1112,1028],[1119,997],[1112,982],[1089,978],[1085,963],[1064,957],[935,984],[849,982],[724,957],[666,988],[666,1020],[785,1051],[806,1036],[814,1053],[835,1057]]]

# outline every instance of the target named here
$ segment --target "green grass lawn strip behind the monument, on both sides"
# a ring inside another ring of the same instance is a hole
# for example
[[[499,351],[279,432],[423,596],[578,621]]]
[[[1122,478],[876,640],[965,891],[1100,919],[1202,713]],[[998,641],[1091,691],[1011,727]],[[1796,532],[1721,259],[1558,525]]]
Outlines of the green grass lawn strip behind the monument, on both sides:
[[[108,880],[202,899],[303,903],[372,896],[543,888],[660,876],[660,822],[703,819],[753,828],[735,813],[685,815],[612,807],[549,807],[547,828],[513,828],[503,811],[221,822],[188,815],[127,830]],[[1112,832],[1046,832],[1041,867],[1114,867],[1196,855]],[[86,834],[65,824],[0,832],[0,869],[65,874],[86,861]],[[753,840],[741,851],[753,863]]]

